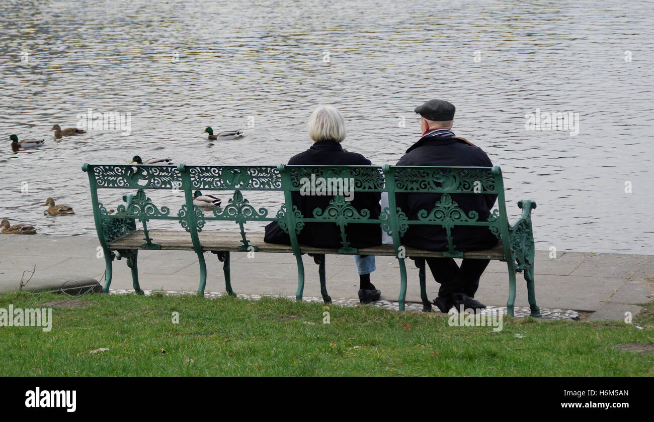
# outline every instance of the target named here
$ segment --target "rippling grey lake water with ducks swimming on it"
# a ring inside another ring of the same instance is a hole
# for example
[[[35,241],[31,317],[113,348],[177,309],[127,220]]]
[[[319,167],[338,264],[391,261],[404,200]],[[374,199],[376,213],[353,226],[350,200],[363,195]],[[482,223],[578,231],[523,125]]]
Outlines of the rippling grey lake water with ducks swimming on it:
[[[538,203],[536,248],[654,253],[651,1],[251,3],[0,2],[0,218],[94,235],[82,163],[277,165],[309,148],[320,103],[345,116],[345,148],[396,163],[438,97],[502,167],[509,214]],[[129,135],[52,137],[89,108],[129,112]],[[579,113],[578,135],[526,130],[537,109]],[[12,133],[46,144],[12,152]],[[43,216],[47,197],[77,214]]]

